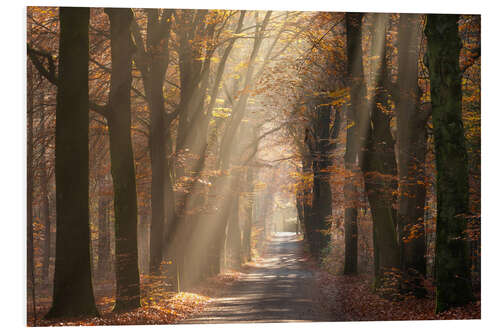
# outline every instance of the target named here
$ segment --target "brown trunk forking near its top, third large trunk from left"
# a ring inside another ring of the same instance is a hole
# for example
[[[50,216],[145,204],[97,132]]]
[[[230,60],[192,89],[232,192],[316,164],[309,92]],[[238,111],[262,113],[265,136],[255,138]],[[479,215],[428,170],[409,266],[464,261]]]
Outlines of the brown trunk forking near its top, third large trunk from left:
[[[169,226],[175,223],[174,214],[169,209],[174,202],[171,182],[167,175],[166,144],[168,144],[169,121],[166,121],[163,84],[165,72],[169,62],[168,41],[171,29],[171,15],[173,10],[163,10],[161,15],[158,9],[146,10],[147,39],[146,47],[140,34],[137,23],[133,23],[133,33],[140,45],[136,53],[137,67],[142,74],[142,81],[150,113],[150,152],[151,152],[151,208],[150,224],[150,273],[156,274],[163,259],[163,241],[165,240],[168,222]],[[169,187],[170,186],[170,187]],[[167,194],[169,195],[166,195]],[[165,207],[167,206],[167,207]],[[166,221],[166,214],[170,220]]]

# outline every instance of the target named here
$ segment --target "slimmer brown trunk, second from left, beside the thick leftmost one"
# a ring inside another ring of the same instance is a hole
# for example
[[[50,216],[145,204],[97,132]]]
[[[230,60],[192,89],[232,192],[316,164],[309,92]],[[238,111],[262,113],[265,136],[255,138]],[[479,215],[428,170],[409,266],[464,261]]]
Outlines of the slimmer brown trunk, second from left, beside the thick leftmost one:
[[[141,306],[137,249],[137,193],[131,139],[132,10],[106,9],[111,23],[109,141],[115,208],[116,304],[114,311]]]

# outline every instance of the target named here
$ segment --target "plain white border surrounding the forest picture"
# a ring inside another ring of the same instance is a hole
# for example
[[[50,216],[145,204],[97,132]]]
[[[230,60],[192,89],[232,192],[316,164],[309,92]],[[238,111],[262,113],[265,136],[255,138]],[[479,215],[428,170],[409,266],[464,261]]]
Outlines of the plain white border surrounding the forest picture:
[[[1,143],[2,162],[0,163],[2,191],[0,197],[2,212],[3,237],[2,245],[2,280],[4,291],[1,304],[0,317],[2,327],[7,329],[25,328],[25,254],[26,254],[26,131],[25,131],[25,87],[26,87],[26,55],[25,55],[25,6],[26,5],[66,5],[66,6],[91,6],[91,7],[174,7],[174,8],[231,8],[231,9],[273,9],[273,10],[328,10],[328,11],[362,11],[362,12],[418,12],[418,13],[464,13],[482,14],[482,167],[483,167],[483,316],[481,321],[413,321],[413,322],[364,322],[364,323],[314,323],[314,324],[235,324],[235,325],[203,325],[203,326],[120,326],[98,327],[97,330],[174,330],[208,332],[230,332],[243,330],[253,332],[257,330],[375,330],[376,332],[398,332],[401,330],[422,333],[423,330],[431,331],[493,331],[499,311],[497,310],[500,297],[498,270],[498,240],[500,235],[499,219],[496,211],[498,174],[497,133],[500,133],[500,110],[498,107],[498,62],[500,50],[498,49],[498,22],[497,6],[493,1],[301,1],[287,0],[263,1],[253,0],[236,3],[234,0],[171,0],[171,1],[138,1],[138,0],[104,0],[104,1],[19,1],[4,4],[2,24],[2,108],[1,117]],[[5,6],[7,5],[7,6]],[[42,330],[50,328],[41,328]],[[61,328],[74,330],[77,328]],[[10,331],[10,330],[9,330]]]

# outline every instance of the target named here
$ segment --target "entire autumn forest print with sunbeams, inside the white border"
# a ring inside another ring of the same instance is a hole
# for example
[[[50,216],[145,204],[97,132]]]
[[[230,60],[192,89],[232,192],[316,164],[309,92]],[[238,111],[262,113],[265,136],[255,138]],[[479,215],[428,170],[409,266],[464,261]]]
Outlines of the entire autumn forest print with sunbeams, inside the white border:
[[[27,326],[481,319],[479,15],[26,13]]]

